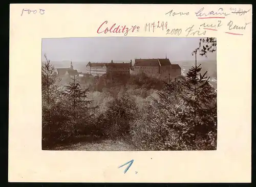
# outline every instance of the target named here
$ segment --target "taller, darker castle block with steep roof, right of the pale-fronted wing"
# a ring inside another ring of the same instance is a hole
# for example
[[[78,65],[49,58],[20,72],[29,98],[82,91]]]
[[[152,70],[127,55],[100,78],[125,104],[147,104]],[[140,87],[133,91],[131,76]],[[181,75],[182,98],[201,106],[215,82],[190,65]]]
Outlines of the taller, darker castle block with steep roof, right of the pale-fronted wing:
[[[167,81],[170,78],[181,75],[181,67],[170,63],[169,59],[135,59],[131,69],[132,74],[145,73]]]

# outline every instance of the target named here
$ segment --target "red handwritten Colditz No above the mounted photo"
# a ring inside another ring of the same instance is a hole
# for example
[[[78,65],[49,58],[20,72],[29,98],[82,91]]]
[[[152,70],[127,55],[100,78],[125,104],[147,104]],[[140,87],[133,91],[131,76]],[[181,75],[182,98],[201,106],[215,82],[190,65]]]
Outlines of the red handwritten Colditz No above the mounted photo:
[[[107,24],[108,21],[104,21],[98,28],[97,33],[98,34],[106,34],[106,33],[124,33],[124,36],[126,36],[130,31],[132,31],[132,33],[139,32],[140,27],[137,25],[133,25],[131,26],[131,28],[128,28],[126,25],[117,25],[116,23],[114,23],[111,28],[109,29],[108,27],[104,28],[103,25]]]

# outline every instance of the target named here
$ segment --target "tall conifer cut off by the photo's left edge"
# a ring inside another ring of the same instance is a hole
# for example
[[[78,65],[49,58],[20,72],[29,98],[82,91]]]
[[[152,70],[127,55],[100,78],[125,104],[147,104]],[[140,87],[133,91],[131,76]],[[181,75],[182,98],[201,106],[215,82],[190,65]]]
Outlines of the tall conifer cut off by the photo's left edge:
[[[62,102],[61,90],[57,84],[58,77],[50,60],[42,62],[42,148],[53,146],[57,141],[69,137],[66,124],[70,119],[69,111]]]

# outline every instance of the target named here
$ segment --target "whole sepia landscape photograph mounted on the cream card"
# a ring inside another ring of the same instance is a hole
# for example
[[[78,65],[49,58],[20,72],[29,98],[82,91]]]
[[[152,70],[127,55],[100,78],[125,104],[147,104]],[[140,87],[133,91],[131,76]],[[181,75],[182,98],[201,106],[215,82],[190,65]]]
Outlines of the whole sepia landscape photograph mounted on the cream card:
[[[217,149],[217,39],[43,38],[42,150]]]

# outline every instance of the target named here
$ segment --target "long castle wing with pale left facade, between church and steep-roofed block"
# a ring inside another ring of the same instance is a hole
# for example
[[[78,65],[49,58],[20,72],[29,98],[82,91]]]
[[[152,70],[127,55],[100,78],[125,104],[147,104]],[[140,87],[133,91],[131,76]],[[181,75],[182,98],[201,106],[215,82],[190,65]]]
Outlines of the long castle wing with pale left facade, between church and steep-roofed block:
[[[87,73],[94,76],[101,76],[103,74],[126,74],[130,75],[130,68],[132,67],[132,60],[130,63],[91,63],[87,64]]]

